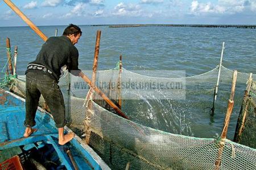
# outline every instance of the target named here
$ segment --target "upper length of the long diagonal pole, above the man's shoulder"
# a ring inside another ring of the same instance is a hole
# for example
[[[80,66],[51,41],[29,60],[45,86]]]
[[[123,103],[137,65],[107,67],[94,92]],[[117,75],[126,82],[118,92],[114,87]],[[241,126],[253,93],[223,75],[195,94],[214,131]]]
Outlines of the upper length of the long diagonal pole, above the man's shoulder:
[[[22,11],[19,10],[18,7],[16,7],[14,5],[13,2],[11,2],[10,0],[3,0],[17,15],[20,16],[20,18],[22,18],[24,20],[24,22],[26,22],[28,24],[28,26],[30,26],[30,28],[32,28],[44,41],[47,40],[47,36],[43,34],[42,31],[40,31],[40,29],[38,27],[36,27],[36,25],[34,23],[31,22],[30,19],[27,18],[26,15],[24,15],[22,13]]]

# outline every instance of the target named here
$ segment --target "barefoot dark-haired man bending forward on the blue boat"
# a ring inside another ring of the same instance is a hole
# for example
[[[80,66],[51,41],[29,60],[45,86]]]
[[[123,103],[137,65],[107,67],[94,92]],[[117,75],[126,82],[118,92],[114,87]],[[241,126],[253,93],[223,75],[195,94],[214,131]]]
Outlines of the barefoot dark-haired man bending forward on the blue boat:
[[[35,61],[27,66],[26,71],[26,130],[24,137],[30,136],[37,129],[35,126],[35,114],[42,94],[51,111],[56,127],[59,130],[59,145],[72,140],[73,133],[64,135],[65,105],[60,87],[57,84],[60,76],[68,69],[73,75],[79,76],[78,68],[79,52],[75,44],[82,35],[77,25],[70,24],[65,28],[63,36],[49,37],[42,45]]]

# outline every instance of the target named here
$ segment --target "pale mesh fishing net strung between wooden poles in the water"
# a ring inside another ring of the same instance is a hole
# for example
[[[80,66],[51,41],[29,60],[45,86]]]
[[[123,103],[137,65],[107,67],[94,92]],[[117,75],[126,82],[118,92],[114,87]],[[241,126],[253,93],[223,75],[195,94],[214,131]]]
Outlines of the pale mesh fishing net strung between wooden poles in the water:
[[[89,78],[91,74],[86,73]],[[225,118],[232,74],[233,70],[221,67],[213,116],[210,116],[210,113],[218,66],[207,73],[187,78],[170,78],[164,73],[142,75],[123,69],[121,79],[118,79],[119,74],[115,69],[98,71],[96,84],[99,87],[104,82],[112,84],[118,80],[125,82],[127,79],[139,79],[144,82],[185,82],[185,94],[183,90],[175,92],[177,96],[185,95],[181,99],[172,99],[170,96],[173,94],[159,89],[148,94],[140,89],[125,88],[120,91],[117,87],[113,87],[113,90],[101,88],[113,101],[117,101],[120,95],[132,97],[122,99],[121,105],[122,111],[130,120],[112,113],[94,89],[90,90],[79,77],[66,73],[60,79],[59,86],[65,100],[68,124],[81,130],[82,136],[88,133],[89,129],[89,145],[112,169],[256,169],[255,146],[247,147],[245,143],[241,145],[229,141],[233,139],[236,129],[249,74],[237,75],[235,105],[230,119],[228,139],[221,140],[218,137]],[[160,75],[166,78],[159,77]],[[253,75],[253,79],[255,78]],[[24,87],[21,85],[24,84],[23,80],[24,77],[15,79],[12,89]],[[110,88],[112,87],[109,86]],[[252,89],[255,92],[255,87]],[[251,101],[255,103],[254,95],[251,95]],[[251,110],[251,107],[249,109]],[[255,111],[250,113],[255,116]],[[255,122],[255,117],[248,121]],[[254,129],[250,126],[246,128],[250,133],[244,132],[245,136],[254,137],[255,141],[255,126]],[[251,135],[253,133],[254,135]],[[219,166],[217,160],[221,160]]]

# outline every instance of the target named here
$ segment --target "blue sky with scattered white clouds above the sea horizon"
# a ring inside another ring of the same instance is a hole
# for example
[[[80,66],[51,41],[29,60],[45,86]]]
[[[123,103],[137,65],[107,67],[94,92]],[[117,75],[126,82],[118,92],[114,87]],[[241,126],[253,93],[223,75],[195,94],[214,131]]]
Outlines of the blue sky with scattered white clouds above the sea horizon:
[[[36,25],[256,24],[256,0],[13,0]],[[0,27],[26,25],[0,1]]]

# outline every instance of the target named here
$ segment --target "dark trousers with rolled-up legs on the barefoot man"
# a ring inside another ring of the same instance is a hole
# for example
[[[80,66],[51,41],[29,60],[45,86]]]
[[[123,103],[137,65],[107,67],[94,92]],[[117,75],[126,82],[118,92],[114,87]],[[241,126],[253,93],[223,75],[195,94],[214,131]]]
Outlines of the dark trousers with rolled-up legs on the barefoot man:
[[[63,128],[65,121],[65,105],[63,95],[56,80],[41,70],[31,70],[26,74],[26,127],[35,126],[35,116],[40,95],[46,100],[57,128]]]

